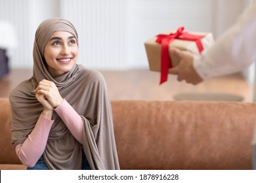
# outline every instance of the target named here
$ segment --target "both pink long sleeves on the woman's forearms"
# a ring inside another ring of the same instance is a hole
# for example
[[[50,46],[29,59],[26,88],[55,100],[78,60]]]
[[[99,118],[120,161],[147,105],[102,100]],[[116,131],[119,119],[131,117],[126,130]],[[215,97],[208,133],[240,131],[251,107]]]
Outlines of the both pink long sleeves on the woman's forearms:
[[[75,112],[74,108],[65,99],[54,110],[58,113],[60,118],[62,118],[75,139],[82,142],[83,122],[81,116]],[[20,158],[20,161],[27,167],[34,167],[38,159],[42,156],[53,122],[54,120],[45,118],[45,116],[41,114],[35,128],[32,133],[28,135],[26,141],[15,147],[18,158]]]

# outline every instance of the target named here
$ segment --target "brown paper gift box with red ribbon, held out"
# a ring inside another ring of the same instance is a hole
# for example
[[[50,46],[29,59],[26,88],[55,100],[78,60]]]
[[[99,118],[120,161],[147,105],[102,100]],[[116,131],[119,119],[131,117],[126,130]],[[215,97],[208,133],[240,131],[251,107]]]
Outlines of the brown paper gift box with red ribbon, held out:
[[[188,32],[184,27],[177,31],[164,31],[160,35],[144,43],[150,71],[161,73],[160,84],[167,80],[168,69],[175,67],[179,59],[171,56],[170,48],[188,50],[194,54],[201,54],[214,44],[212,33]]]

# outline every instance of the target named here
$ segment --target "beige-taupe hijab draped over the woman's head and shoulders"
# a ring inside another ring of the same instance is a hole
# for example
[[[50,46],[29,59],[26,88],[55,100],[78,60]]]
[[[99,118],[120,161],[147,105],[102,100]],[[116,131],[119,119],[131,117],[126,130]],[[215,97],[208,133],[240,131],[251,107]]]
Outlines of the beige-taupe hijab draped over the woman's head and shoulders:
[[[22,144],[32,132],[43,106],[33,90],[43,78],[53,81],[60,95],[83,120],[83,144],[72,136],[62,119],[54,112],[43,158],[50,169],[81,169],[83,148],[91,169],[119,169],[114,139],[112,110],[103,76],[98,71],[75,65],[72,71],[53,78],[45,67],[43,52],[54,31],[68,31],[78,42],[70,22],[51,18],[42,22],[33,46],[33,76],[19,84],[10,95],[12,107],[12,144]]]

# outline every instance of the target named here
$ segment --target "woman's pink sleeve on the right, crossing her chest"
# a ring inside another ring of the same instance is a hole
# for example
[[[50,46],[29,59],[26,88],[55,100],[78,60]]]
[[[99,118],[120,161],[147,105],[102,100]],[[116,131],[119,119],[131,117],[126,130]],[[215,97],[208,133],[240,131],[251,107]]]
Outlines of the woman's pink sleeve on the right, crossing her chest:
[[[66,124],[72,135],[82,143],[83,139],[83,121],[81,116],[77,114],[74,108],[64,99],[62,103],[56,107],[55,112]]]

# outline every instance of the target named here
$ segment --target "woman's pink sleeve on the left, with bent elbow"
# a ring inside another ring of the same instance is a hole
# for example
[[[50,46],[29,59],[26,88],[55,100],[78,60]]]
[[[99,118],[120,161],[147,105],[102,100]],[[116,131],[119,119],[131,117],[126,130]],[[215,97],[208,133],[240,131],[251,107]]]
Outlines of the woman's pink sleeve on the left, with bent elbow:
[[[16,145],[16,154],[20,158],[20,161],[27,167],[34,167],[38,159],[42,156],[53,122],[54,120],[45,118],[41,114],[28,138],[23,144]]]

